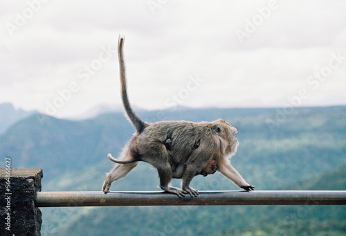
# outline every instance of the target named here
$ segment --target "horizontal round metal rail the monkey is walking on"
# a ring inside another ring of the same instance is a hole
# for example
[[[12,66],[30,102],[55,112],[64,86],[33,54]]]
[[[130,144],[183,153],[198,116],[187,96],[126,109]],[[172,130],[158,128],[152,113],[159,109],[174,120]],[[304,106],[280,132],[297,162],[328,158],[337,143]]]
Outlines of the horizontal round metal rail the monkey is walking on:
[[[346,191],[37,192],[36,207],[62,206],[346,205]]]

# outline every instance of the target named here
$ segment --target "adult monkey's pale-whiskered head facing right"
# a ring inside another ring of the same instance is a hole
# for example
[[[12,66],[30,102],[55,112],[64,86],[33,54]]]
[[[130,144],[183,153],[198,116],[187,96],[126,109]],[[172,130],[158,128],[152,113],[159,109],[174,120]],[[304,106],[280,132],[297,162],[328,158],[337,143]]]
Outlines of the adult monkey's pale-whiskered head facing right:
[[[220,151],[224,155],[232,156],[237,152],[238,140],[235,138],[235,134],[237,134],[238,129],[226,120],[215,120],[212,122],[213,129],[217,138],[219,139]]]

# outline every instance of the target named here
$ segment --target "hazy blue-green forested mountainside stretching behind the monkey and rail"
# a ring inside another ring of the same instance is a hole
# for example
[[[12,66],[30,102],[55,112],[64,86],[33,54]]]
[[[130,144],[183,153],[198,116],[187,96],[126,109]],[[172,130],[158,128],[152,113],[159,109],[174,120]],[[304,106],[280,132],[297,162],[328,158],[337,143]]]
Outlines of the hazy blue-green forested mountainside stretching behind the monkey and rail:
[[[316,181],[320,174],[331,173],[329,181],[333,181],[331,171],[346,164],[345,106],[290,111],[179,108],[138,114],[148,122],[224,118],[235,125],[240,144],[232,163],[248,183],[255,185],[255,190],[310,189],[316,187],[311,181]],[[42,167],[43,191],[100,190],[105,172],[113,166],[107,153],[117,156],[133,132],[122,113],[102,114],[88,120],[34,114],[19,120],[0,136],[0,153],[12,157],[13,168]],[[179,184],[180,181],[173,182]],[[322,182],[316,184],[322,186]],[[343,188],[323,184],[326,189]],[[158,190],[157,185],[156,170],[140,163],[124,179],[113,183],[111,190]],[[218,173],[206,178],[197,176],[191,186],[198,190],[238,190]],[[227,235],[232,230],[252,233],[252,229],[262,225],[286,224],[287,220],[290,224],[316,220],[319,225],[331,219],[339,225],[345,210],[343,206],[43,208],[42,235]]]

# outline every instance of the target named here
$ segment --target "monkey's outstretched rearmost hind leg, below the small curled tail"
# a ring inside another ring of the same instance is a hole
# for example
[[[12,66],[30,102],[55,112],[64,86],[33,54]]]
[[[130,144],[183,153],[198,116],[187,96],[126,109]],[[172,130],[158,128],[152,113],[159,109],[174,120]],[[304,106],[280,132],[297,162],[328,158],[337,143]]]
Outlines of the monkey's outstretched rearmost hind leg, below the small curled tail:
[[[103,183],[102,191],[104,193],[109,192],[109,188],[111,188],[111,183],[113,181],[117,181],[118,179],[124,178],[127,173],[129,173],[136,165],[138,162],[134,163],[128,163],[128,164],[116,164],[111,172],[107,173],[107,178]]]

